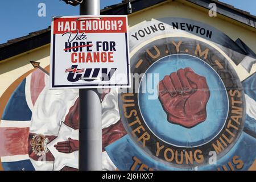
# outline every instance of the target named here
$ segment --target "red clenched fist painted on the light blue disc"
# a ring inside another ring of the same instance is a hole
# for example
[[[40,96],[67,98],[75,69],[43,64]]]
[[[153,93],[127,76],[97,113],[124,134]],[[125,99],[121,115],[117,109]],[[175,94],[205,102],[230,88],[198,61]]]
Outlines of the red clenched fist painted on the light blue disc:
[[[159,82],[159,100],[168,121],[193,127],[207,118],[210,91],[205,77],[191,68],[179,69]]]

